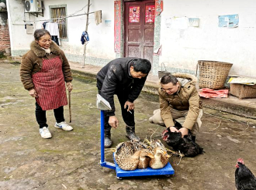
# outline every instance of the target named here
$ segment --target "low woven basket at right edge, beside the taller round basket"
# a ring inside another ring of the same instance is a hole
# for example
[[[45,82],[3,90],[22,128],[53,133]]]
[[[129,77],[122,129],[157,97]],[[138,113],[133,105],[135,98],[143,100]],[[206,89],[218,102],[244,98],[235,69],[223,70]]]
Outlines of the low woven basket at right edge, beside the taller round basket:
[[[256,97],[256,85],[230,83],[230,93],[239,98]]]

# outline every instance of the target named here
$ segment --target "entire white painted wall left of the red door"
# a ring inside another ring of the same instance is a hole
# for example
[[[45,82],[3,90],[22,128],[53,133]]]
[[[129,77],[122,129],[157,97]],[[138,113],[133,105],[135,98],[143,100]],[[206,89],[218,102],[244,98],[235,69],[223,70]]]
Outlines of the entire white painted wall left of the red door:
[[[40,29],[43,21],[50,19],[50,5],[67,5],[67,15],[82,14],[87,12],[88,1],[80,0],[44,0],[44,16],[24,15],[24,5],[22,0],[7,0],[9,2],[9,20],[12,50],[29,49],[29,43],[33,41],[32,34],[26,34],[25,23],[33,23],[35,29]],[[95,24],[95,15],[89,15],[88,34],[90,41],[87,45],[86,56],[104,59],[115,59],[114,52],[114,2],[112,0],[97,1],[91,0],[90,12],[102,10],[102,23]],[[26,20],[27,22],[24,22]],[[106,25],[105,20],[111,20],[111,25]],[[81,45],[81,33],[85,30],[86,15],[71,17],[67,19],[67,38],[61,42],[61,49],[65,53],[83,55]]]

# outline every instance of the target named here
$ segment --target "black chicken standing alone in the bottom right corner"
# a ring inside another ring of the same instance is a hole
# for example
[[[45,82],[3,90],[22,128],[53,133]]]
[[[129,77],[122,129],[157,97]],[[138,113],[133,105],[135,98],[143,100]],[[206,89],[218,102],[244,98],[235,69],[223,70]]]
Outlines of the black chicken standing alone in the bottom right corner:
[[[235,172],[237,190],[255,190],[256,178],[253,173],[244,165],[243,158],[237,159]]]

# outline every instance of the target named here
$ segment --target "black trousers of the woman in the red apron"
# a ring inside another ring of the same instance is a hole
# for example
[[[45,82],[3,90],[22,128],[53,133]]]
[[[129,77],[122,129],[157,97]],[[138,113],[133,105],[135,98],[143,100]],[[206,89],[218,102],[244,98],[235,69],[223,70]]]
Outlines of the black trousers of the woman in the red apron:
[[[64,109],[63,107],[59,107],[54,109],[54,116],[57,123],[61,123],[65,121],[64,119]],[[39,124],[40,128],[48,127],[47,125],[47,111],[42,110],[42,107],[38,103],[36,103],[36,121]]]

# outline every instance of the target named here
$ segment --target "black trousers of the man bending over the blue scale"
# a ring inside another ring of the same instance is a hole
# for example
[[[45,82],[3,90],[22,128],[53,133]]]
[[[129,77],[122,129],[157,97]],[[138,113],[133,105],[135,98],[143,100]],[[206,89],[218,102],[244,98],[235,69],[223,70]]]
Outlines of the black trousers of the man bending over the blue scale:
[[[116,96],[118,97],[118,100],[121,106],[123,121],[128,126],[135,126],[134,110],[130,110],[131,111],[130,113],[129,111],[127,111],[127,109],[124,108],[124,104],[128,100],[129,93],[130,93],[129,91],[121,91],[119,93],[116,93]],[[99,94],[101,94],[100,90],[99,90]],[[105,121],[104,122],[105,131],[110,131],[111,126],[109,125],[109,116],[106,111],[104,112],[104,121]]]

